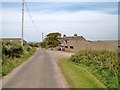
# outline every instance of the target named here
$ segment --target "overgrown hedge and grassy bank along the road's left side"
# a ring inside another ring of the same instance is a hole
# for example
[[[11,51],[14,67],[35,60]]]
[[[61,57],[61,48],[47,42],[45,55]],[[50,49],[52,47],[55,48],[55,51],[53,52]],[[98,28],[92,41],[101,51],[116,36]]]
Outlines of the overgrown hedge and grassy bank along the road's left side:
[[[29,45],[25,45],[21,48],[18,44],[13,43],[5,43],[2,49],[2,65],[0,67],[0,74],[2,76],[7,75],[36,52],[36,48]]]

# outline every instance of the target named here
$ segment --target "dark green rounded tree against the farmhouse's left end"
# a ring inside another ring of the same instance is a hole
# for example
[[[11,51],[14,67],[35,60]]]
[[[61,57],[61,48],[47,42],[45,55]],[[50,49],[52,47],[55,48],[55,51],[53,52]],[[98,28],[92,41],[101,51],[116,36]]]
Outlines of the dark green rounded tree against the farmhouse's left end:
[[[46,43],[46,47],[56,47],[60,44],[59,38],[61,37],[61,34],[56,33],[49,33],[47,37],[45,38],[44,43]]]

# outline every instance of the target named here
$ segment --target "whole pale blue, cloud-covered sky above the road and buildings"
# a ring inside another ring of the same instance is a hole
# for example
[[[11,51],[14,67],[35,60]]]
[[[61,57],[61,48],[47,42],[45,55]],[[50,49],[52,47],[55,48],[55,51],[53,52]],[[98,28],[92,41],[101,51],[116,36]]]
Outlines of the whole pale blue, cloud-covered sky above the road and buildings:
[[[2,37],[21,37],[21,6],[21,2],[0,5]],[[40,42],[42,32],[44,37],[60,32],[67,36],[77,33],[92,41],[118,39],[117,2],[26,2],[24,19],[24,39],[28,42]]]

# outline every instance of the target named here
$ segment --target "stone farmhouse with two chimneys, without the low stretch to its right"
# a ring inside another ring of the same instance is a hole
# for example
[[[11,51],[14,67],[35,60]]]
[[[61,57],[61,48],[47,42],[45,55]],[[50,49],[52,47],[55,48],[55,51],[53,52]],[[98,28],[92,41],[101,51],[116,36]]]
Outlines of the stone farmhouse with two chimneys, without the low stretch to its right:
[[[56,48],[71,52],[78,52],[83,48],[82,46],[84,44],[88,43],[83,36],[77,36],[77,34],[74,34],[73,36],[63,35],[63,37],[59,40],[60,45],[58,45]]]

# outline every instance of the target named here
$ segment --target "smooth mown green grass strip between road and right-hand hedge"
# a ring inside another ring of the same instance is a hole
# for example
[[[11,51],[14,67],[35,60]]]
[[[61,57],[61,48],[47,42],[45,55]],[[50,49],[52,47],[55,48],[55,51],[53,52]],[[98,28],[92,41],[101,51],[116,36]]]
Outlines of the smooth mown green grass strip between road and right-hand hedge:
[[[105,88],[89,71],[71,61],[60,60],[59,66],[71,88]]]

